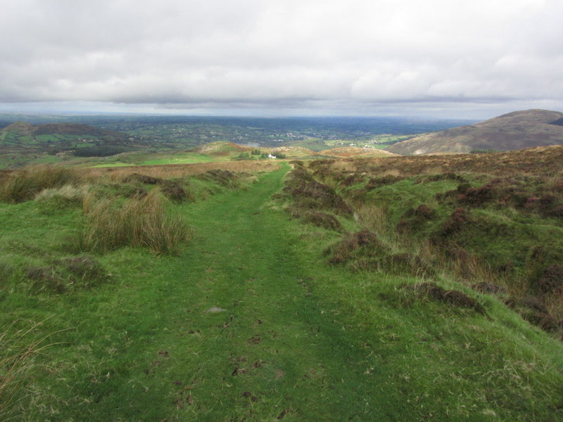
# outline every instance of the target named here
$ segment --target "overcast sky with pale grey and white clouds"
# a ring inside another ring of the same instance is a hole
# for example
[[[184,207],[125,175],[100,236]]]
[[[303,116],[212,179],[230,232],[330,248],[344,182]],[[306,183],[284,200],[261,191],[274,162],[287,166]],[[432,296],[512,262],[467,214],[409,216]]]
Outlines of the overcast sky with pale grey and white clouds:
[[[563,110],[562,0],[3,0],[0,110]]]

